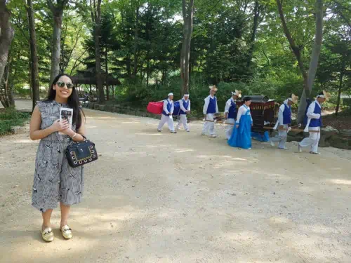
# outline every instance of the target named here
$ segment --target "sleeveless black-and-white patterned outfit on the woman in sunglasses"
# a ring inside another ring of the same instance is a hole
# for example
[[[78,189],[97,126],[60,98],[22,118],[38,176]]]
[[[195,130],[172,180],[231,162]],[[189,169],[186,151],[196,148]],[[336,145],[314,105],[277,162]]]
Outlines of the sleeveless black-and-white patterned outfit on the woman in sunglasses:
[[[50,127],[60,119],[60,107],[55,101],[38,102],[41,114],[41,130]],[[75,125],[72,126],[75,130]],[[64,205],[74,205],[81,201],[84,188],[83,166],[72,168],[67,163],[65,149],[72,144],[68,135],[51,133],[41,139],[35,161],[34,183],[32,190],[32,205],[41,212],[53,209],[58,202]]]

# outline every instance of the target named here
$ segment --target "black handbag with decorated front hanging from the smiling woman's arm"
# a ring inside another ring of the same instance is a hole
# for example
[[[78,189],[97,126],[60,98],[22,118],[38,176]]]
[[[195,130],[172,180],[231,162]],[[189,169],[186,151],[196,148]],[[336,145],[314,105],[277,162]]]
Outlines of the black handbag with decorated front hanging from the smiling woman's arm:
[[[98,160],[98,152],[95,149],[95,143],[87,140],[69,144],[65,150],[69,166],[78,167],[86,163]]]

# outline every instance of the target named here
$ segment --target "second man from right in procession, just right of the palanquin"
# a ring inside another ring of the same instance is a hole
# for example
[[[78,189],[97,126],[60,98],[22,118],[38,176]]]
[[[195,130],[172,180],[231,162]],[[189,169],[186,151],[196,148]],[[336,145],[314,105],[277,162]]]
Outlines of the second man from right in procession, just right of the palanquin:
[[[278,149],[286,150],[286,138],[288,137],[289,126],[291,124],[291,106],[298,102],[298,96],[291,95],[279,107],[278,121],[275,123],[274,130],[278,128],[278,135],[270,138],[270,144],[275,147],[274,142],[279,142]]]

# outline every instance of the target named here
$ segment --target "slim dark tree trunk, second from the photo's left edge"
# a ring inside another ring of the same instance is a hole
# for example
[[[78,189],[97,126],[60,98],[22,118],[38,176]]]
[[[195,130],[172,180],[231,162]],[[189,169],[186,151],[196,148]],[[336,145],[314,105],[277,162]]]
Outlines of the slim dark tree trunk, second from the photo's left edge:
[[[29,46],[31,60],[31,86],[32,86],[32,109],[34,109],[37,101],[40,100],[39,95],[39,63],[37,53],[37,36],[35,34],[34,11],[32,0],[27,0],[27,15],[29,23]]]

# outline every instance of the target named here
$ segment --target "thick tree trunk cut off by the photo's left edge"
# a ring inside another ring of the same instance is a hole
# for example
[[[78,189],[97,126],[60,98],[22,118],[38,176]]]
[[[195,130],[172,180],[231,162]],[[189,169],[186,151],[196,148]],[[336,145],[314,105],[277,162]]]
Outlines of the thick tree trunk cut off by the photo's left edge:
[[[11,26],[10,11],[6,8],[6,0],[0,0],[0,85],[4,76],[10,49],[15,30]]]

